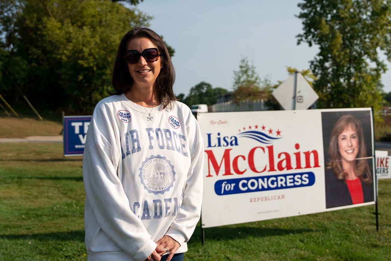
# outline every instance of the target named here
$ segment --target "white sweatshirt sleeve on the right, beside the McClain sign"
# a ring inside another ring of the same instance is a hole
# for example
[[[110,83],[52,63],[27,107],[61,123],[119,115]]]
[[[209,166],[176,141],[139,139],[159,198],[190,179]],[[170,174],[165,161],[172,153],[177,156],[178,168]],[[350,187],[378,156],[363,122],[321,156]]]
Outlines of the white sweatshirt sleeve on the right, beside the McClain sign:
[[[191,164],[187,173],[187,182],[183,192],[183,201],[178,214],[166,235],[172,237],[180,245],[192,236],[195,226],[201,216],[203,194],[204,145],[198,122],[190,114],[188,138]]]

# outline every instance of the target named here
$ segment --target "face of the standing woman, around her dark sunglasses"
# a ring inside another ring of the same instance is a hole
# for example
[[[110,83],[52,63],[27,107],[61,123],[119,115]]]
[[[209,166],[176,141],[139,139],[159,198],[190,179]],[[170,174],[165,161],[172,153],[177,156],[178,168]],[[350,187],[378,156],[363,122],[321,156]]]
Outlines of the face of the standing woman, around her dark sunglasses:
[[[142,53],[148,48],[157,48],[148,38],[134,38],[127,44],[126,50],[137,50]],[[154,87],[156,78],[160,73],[160,57],[157,61],[147,62],[143,56],[140,56],[137,63],[129,64],[129,73],[133,78],[132,87],[151,88]]]

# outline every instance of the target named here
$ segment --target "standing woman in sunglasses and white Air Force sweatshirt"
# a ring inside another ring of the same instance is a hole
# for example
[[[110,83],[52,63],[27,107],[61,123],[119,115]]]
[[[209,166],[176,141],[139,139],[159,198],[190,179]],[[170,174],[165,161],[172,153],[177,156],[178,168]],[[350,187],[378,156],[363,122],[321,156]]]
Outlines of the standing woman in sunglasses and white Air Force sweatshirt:
[[[158,34],[125,34],[116,93],[95,107],[84,148],[89,260],[183,260],[200,217],[203,141],[174,79]]]

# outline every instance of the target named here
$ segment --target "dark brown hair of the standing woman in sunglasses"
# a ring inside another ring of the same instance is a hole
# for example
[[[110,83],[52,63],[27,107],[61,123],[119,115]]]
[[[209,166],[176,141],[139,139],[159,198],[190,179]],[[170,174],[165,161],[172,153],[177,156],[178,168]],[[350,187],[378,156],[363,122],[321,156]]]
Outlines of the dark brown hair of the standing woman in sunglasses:
[[[161,65],[160,73],[156,78],[156,90],[158,101],[162,108],[166,108],[172,101],[176,101],[172,86],[175,81],[175,70],[172,64],[169,51],[161,37],[149,28],[137,27],[127,32],[118,46],[117,58],[115,59],[111,83],[115,93],[123,94],[131,89],[133,78],[124,59],[127,44],[135,38],[148,38],[159,50]]]

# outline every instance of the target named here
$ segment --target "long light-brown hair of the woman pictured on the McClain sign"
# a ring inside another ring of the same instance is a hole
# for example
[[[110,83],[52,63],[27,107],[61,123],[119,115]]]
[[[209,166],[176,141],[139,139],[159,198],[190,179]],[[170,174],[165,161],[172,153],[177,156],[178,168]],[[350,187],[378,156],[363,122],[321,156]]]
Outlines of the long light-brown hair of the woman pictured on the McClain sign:
[[[341,162],[341,154],[338,151],[338,137],[346,130],[348,126],[356,131],[359,139],[359,152],[355,160],[355,175],[358,176],[366,184],[371,184],[372,175],[369,171],[369,166],[366,157],[366,145],[364,140],[364,133],[362,130],[362,124],[352,115],[344,115],[335,122],[334,127],[331,130],[330,146],[328,147],[328,154],[330,155],[330,161],[327,163],[327,169],[333,169],[335,176],[339,180],[345,180],[348,173],[344,172]]]

